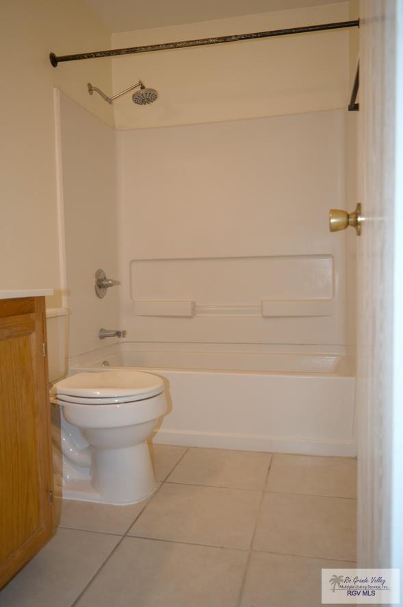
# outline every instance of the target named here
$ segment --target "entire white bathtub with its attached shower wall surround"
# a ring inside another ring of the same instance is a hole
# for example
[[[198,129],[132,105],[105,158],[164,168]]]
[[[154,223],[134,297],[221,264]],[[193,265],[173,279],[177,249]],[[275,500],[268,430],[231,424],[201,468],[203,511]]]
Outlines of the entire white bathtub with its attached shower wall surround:
[[[114,132],[61,95],[60,123],[70,368],[162,375],[161,443],[355,455],[352,280],[327,225],[346,111]],[[122,283],[104,299],[97,267]]]

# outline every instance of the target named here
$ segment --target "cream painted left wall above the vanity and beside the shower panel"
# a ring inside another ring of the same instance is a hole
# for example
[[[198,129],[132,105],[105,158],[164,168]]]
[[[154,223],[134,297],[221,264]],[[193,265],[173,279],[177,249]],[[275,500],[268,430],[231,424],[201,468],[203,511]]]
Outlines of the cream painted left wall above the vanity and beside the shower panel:
[[[107,123],[112,109],[95,107],[90,79],[111,88],[109,60],[60,65],[49,53],[109,47],[110,34],[79,0],[1,2],[1,223],[2,288],[52,287],[60,305],[53,87]]]

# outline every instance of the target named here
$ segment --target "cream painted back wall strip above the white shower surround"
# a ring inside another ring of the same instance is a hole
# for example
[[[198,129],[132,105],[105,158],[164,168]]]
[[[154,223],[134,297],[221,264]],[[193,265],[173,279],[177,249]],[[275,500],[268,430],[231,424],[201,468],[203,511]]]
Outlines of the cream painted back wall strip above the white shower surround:
[[[313,23],[347,21],[348,2],[203,21],[112,36],[114,48]],[[159,91],[152,106],[115,106],[118,129],[345,108],[350,97],[350,30],[127,55],[113,60],[114,92],[137,79]],[[354,68],[355,69],[355,68]],[[102,99],[94,100],[99,106]]]

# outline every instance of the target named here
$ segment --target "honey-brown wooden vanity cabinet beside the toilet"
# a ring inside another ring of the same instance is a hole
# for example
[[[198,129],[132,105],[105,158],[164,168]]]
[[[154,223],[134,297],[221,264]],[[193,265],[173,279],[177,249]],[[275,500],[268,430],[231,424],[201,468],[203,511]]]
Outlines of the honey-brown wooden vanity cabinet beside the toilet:
[[[0,299],[0,588],[53,534],[44,297]]]

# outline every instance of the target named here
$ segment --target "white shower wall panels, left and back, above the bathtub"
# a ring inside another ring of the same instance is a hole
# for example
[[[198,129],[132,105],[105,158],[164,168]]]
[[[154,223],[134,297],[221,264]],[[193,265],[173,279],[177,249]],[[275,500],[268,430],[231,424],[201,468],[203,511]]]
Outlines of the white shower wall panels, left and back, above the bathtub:
[[[61,94],[70,357],[105,347],[101,326],[145,349],[343,354],[355,241],[328,232],[328,210],[354,200],[354,121],[331,110],[116,132]],[[122,281],[102,300],[98,267]]]

